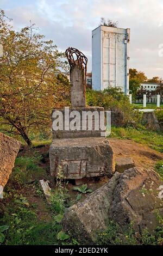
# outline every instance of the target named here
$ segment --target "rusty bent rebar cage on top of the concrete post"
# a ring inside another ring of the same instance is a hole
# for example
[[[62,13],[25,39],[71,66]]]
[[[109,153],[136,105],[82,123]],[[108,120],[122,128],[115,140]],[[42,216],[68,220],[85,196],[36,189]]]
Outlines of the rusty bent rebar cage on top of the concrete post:
[[[86,72],[87,72],[87,58],[86,56],[80,52],[78,49],[73,47],[68,47],[65,51],[66,57],[68,59],[68,63],[70,64],[70,68],[74,65],[79,65],[85,70],[85,85],[86,85]]]

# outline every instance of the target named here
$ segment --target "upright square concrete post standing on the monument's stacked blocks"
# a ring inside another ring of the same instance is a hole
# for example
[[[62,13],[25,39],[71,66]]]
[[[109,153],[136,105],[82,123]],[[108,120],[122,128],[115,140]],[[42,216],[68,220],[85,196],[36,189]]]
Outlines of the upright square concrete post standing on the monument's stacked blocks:
[[[80,65],[74,65],[70,69],[71,104],[72,107],[85,107],[85,70]]]

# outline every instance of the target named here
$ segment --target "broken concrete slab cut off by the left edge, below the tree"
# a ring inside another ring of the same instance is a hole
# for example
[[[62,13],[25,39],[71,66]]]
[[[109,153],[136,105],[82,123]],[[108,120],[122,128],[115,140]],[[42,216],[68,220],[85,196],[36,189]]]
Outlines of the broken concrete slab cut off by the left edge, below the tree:
[[[0,185],[7,184],[21,143],[0,133]]]

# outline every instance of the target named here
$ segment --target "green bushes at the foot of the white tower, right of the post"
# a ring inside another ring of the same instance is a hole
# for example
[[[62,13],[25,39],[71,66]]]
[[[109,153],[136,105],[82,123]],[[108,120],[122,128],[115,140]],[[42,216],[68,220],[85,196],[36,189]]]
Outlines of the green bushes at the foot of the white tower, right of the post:
[[[129,97],[121,92],[120,88],[108,88],[103,91],[87,90],[86,101],[89,106],[104,107],[105,110],[122,111],[124,113],[124,125],[139,120],[139,113],[134,111],[129,102]]]

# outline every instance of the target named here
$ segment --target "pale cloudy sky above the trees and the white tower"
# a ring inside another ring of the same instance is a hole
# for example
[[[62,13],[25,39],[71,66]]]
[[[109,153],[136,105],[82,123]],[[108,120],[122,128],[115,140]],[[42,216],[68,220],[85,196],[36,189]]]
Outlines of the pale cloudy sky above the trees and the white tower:
[[[130,28],[130,68],[148,78],[163,78],[163,0],[0,0],[14,29],[30,25],[52,39],[61,51],[78,48],[88,58],[91,71],[91,31],[101,17]]]

